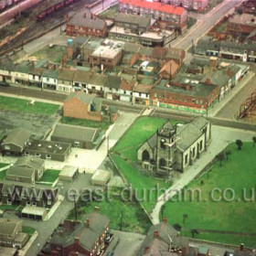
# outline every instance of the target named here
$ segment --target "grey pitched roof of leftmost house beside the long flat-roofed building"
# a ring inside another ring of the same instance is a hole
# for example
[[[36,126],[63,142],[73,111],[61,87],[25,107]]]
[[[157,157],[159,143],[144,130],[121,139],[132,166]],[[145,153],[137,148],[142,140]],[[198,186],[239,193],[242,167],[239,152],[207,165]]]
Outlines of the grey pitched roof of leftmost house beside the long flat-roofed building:
[[[17,146],[24,147],[31,134],[22,128],[17,128],[9,133],[2,144],[16,144]]]

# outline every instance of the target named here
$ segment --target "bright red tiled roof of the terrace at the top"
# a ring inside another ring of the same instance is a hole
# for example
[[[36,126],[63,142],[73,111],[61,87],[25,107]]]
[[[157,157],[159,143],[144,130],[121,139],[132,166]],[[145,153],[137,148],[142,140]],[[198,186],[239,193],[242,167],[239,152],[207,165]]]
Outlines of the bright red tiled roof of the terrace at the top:
[[[153,9],[160,12],[181,16],[185,8],[174,5],[164,5],[159,2],[147,2],[144,0],[119,0],[120,3],[134,5],[142,8]]]

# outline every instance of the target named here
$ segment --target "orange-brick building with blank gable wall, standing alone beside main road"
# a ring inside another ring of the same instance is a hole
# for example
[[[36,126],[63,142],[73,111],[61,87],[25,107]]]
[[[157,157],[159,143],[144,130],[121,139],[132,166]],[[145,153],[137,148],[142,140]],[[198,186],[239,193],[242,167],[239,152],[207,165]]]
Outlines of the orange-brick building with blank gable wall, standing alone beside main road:
[[[101,121],[101,100],[83,91],[71,92],[63,102],[63,116]]]

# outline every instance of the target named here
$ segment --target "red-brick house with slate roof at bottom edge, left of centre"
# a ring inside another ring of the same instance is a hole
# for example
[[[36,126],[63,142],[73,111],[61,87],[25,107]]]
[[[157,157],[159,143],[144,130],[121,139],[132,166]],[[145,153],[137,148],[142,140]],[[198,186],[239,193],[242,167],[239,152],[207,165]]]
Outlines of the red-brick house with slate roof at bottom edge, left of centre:
[[[43,255],[103,255],[111,242],[110,220],[99,208],[85,215],[85,220],[64,220],[44,248]]]

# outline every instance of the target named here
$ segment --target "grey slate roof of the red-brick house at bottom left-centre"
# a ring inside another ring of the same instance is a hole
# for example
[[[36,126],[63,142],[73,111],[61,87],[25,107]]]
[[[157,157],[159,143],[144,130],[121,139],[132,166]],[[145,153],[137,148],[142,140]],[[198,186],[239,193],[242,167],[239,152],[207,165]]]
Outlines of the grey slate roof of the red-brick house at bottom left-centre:
[[[91,251],[96,240],[101,236],[101,233],[109,224],[110,220],[98,212],[86,214],[85,219],[89,219],[89,227],[86,226],[85,222],[77,221],[74,225],[74,229],[64,229],[62,236],[59,236],[59,231],[62,229],[59,228],[53,233],[49,243],[69,246],[74,243],[75,238],[79,238],[80,245],[88,251]]]

